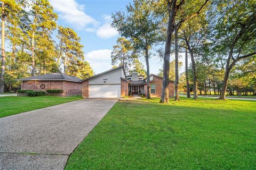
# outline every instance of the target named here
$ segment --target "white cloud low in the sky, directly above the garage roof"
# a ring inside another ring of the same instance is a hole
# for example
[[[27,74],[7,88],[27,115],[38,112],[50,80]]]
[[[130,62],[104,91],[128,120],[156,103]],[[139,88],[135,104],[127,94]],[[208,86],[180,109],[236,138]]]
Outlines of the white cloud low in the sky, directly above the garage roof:
[[[85,54],[85,60],[90,63],[93,71],[98,74],[111,69],[110,49],[93,50]]]

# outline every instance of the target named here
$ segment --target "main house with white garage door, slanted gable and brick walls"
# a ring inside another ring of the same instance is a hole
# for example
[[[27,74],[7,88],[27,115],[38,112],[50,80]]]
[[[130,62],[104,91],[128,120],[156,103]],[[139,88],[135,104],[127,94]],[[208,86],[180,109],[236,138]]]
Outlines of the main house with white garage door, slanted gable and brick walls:
[[[125,75],[124,67],[94,75],[81,80],[83,98],[119,98],[129,94],[147,95],[147,79],[143,75],[133,72],[132,75]],[[161,97],[163,78],[150,74],[150,96]],[[174,84],[170,81],[169,97],[173,97]]]

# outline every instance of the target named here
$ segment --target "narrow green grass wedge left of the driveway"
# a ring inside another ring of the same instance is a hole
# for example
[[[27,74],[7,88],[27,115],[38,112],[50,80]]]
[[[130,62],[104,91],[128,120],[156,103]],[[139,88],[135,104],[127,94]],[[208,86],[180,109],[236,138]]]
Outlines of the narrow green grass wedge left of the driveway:
[[[82,99],[81,96],[0,97],[0,117]]]

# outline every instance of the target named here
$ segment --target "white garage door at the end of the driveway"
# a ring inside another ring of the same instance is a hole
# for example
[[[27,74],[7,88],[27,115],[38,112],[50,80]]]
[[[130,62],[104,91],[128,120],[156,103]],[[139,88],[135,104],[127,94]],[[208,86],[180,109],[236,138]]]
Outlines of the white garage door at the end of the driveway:
[[[90,98],[117,98],[121,96],[120,84],[97,84],[89,85]]]

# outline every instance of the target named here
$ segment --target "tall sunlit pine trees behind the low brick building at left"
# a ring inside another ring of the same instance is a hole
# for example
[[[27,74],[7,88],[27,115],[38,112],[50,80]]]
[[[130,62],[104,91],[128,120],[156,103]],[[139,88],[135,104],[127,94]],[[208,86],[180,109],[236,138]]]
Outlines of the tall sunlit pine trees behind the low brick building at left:
[[[93,74],[84,60],[81,38],[57,25],[48,0],[3,0],[0,93],[14,91],[22,77],[64,72],[79,78]]]

